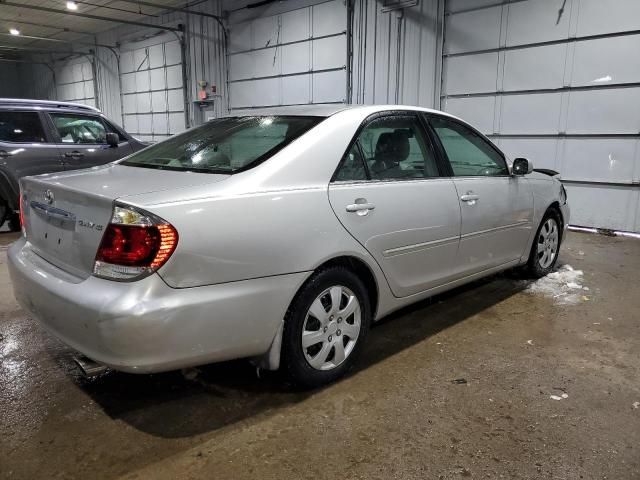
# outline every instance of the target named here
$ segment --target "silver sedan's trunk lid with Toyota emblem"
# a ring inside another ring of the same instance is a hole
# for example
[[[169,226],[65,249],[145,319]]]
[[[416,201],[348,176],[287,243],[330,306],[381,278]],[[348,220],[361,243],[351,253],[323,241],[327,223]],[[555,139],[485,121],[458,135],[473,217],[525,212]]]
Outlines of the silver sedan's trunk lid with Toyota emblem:
[[[111,165],[21,180],[26,237],[51,264],[87,278],[120,197],[215,183],[227,175]]]

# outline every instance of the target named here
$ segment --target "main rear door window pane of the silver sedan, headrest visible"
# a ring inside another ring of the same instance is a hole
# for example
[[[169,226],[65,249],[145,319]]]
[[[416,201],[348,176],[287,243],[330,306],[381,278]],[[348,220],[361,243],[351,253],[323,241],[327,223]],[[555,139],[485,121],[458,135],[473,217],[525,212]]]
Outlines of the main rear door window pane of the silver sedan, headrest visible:
[[[433,151],[418,118],[392,115],[369,122],[358,135],[372,180],[439,175]]]

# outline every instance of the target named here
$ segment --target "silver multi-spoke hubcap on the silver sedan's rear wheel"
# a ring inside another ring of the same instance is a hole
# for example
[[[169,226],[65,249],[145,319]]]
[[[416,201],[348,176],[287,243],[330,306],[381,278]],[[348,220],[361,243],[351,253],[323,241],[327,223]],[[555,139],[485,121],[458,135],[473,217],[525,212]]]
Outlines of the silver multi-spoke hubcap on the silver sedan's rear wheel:
[[[327,288],[311,304],[302,328],[302,351],[309,365],[331,370],[353,351],[360,335],[360,302],[347,287]]]

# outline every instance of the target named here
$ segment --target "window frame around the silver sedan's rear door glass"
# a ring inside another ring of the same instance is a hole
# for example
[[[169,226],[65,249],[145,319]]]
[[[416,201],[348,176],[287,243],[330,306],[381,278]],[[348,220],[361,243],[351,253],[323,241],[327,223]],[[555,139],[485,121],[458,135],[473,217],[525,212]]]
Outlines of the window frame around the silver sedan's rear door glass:
[[[429,132],[429,128],[428,128],[428,124],[426,122],[426,120],[423,118],[422,115],[420,115],[420,111],[417,110],[386,110],[386,111],[382,111],[382,112],[376,112],[373,113],[371,115],[369,115],[367,118],[365,118],[360,125],[358,126],[356,132],[354,133],[353,137],[351,138],[351,140],[349,141],[349,144],[347,145],[346,150],[344,151],[344,153],[342,154],[342,157],[340,158],[340,161],[338,162],[338,166],[336,167],[336,169],[333,172],[333,175],[331,175],[331,180],[329,180],[329,183],[334,183],[337,185],[345,185],[345,184],[353,184],[353,183],[389,183],[389,182],[411,182],[411,181],[425,181],[425,180],[436,180],[436,179],[441,179],[441,178],[446,178],[448,177],[448,167],[447,164],[442,162],[442,159],[440,158],[439,155],[439,151],[436,147],[436,145],[433,142],[433,138],[431,137],[431,134]],[[372,122],[379,120],[380,118],[386,118],[386,117],[414,117],[415,120],[417,121],[418,124],[418,129],[422,132],[422,135],[424,136],[424,140],[426,143],[426,147],[428,150],[431,151],[431,154],[433,155],[433,159],[436,162],[436,168],[438,169],[438,175],[435,177],[406,177],[406,178],[371,178],[371,172],[369,171],[369,165],[367,164],[367,160],[366,157],[364,155],[364,151],[362,149],[362,145],[359,142],[360,139],[360,134],[362,133],[362,131],[367,128],[369,126],[369,124],[371,124]],[[342,168],[342,166],[344,165],[345,161],[347,160],[347,156],[349,155],[349,152],[351,151],[351,149],[353,148],[353,146],[357,145],[358,150],[360,151],[360,157],[362,158],[362,163],[364,164],[364,170],[366,173],[367,178],[364,180],[336,180],[337,176],[338,176],[338,172],[340,171],[340,169]]]

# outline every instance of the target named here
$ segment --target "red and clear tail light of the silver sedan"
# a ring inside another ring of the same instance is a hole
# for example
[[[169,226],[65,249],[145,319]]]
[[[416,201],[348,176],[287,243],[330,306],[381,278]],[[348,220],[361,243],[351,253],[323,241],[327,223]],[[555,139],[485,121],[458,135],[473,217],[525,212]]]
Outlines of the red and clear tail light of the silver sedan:
[[[110,280],[138,280],[158,270],[178,244],[178,232],[161,218],[116,205],[105,229],[93,274]]]

